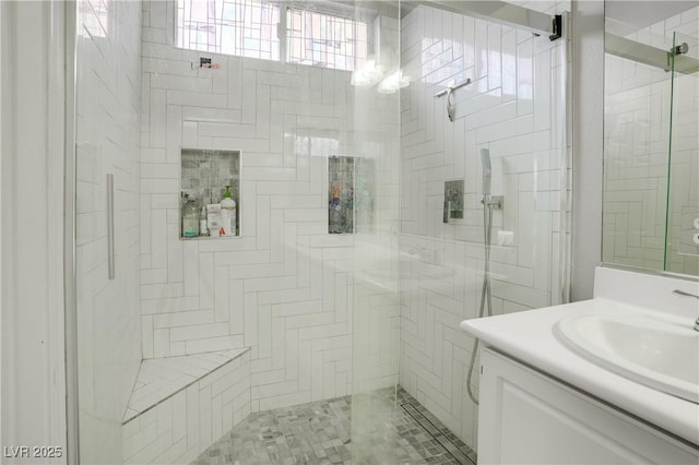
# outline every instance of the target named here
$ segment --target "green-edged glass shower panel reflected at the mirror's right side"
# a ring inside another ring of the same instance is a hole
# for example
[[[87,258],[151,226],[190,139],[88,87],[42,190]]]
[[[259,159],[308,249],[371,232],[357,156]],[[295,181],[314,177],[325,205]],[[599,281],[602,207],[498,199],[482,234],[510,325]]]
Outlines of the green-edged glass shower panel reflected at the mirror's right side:
[[[697,21],[695,20],[695,23]],[[697,28],[695,27],[695,31]],[[673,49],[665,271],[699,275],[699,39],[676,32]]]

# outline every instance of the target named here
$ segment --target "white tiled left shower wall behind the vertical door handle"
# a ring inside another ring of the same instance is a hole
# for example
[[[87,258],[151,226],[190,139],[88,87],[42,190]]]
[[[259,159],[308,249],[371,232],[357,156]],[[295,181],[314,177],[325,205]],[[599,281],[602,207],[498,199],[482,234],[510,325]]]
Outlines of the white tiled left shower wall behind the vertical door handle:
[[[78,9],[75,267],[81,460],[120,463],[121,418],[141,362],[141,7],[132,1],[83,0]],[[114,281],[107,278],[107,174],[115,177]]]

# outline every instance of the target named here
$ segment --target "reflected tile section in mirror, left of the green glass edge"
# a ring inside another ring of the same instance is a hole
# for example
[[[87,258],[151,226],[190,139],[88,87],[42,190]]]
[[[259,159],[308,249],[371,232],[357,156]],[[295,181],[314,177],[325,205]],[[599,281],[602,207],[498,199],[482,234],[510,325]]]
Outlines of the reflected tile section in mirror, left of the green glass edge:
[[[672,39],[653,36],[670,50]],[[605,53],[602,261],[662,270],[671,76]]]

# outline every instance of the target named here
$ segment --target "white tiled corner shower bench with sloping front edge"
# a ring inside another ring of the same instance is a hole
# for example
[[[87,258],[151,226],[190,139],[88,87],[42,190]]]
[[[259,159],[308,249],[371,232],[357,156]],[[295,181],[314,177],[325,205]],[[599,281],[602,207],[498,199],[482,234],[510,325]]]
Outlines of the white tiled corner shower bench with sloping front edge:
[[[190,463],[249,413],[248,347],[145,359],[123,415],[123,463]]]

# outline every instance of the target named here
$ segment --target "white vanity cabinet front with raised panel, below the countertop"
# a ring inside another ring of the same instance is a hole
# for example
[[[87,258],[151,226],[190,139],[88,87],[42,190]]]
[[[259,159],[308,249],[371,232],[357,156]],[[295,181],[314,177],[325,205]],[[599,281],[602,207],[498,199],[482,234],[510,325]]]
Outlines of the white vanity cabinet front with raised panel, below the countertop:
[[[481,365],[479,465],[699,464],[696,446],[491,348]]]

